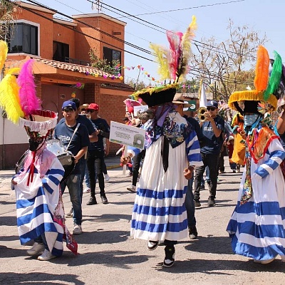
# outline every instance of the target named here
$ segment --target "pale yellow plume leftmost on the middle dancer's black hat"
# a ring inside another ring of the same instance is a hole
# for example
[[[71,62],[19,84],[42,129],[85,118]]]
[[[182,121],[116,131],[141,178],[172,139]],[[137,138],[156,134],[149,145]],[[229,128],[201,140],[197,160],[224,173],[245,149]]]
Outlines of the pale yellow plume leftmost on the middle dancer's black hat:
[[[167,50],[156,43],[150,43],[150,48],[153,54],[157,57],[158,70],[157,73],[160,75],[161,80],[170,78],[169,64],[167,61]]]

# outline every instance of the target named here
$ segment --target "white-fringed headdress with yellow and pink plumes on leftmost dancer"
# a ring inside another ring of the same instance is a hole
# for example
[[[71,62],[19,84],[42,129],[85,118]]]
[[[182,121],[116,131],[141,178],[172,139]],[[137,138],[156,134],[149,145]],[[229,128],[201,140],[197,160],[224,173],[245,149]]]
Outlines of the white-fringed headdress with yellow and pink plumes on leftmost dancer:
[[[7,43],[0,41],[0,68],[3,68],[8,52]],[[57,114],[40,110],[41,100],[36,96],[33,78],[33,60],[29,59],[20,68],[8,70],[0,83],[0,107],[13,123],[24,126],[31,138],[46,138],[55,128]],[[18,78],[15,74],[19,73]]]

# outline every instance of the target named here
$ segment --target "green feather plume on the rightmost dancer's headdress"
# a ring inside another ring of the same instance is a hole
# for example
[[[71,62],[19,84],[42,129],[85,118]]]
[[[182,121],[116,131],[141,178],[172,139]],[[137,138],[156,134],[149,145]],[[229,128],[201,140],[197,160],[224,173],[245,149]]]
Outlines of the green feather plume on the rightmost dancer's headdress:
[[[264,100],[267,101],[271,94],[273,94],[279,87],[282,75],[282,59],[279,53],[274,51],[274,63],[271,70],[268,86],[264,92]]]

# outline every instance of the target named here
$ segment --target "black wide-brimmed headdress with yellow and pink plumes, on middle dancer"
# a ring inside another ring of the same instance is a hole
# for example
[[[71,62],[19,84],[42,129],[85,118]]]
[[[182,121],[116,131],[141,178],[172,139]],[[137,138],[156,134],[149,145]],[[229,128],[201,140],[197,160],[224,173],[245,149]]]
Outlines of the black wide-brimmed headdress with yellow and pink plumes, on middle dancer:
[[[192,23],[185,33],[167,31],[169,48],[150,43],[150,48],[157,58],[160,79],[172,81],[172,84],[139,90],[133,93],[135,100],[140,97],[149,106],[160,105],[173,100],[178,81],[181,81],[189,71],[190,46],[196,29],[196,17],[192,16]]]

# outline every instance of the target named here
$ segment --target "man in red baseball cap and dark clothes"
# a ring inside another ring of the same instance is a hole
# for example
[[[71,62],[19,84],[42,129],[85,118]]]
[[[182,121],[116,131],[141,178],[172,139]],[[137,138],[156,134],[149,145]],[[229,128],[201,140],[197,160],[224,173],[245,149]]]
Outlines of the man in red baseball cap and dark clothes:
[[[110,133],[110,126],[107,121],[98,118],[99,105],[96,103],[91,103],[88,105],[87,113],[90,115],[90,120],[93,123],[94,127],[97,129],[96,134],[98,135],[98,141],[90,143],[87,152],[87,167],[89,172],[89,181],[90,181],[90,199],[87,202],[88,205],[97,204],[95,198],[95,186],[96,179],[95,173],[98,177],[99,188],[100,188],[100,197],[103,204],[108,203],[108,199],[105,195],[105,182],[103,175],[103,163],[105,154],[109,153],[109,142],[106,140],[106,150],[104,150],[103,134]],[[105,153],[106,152],[106,153]]]

